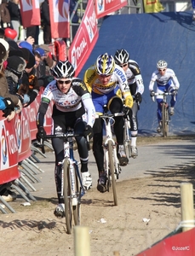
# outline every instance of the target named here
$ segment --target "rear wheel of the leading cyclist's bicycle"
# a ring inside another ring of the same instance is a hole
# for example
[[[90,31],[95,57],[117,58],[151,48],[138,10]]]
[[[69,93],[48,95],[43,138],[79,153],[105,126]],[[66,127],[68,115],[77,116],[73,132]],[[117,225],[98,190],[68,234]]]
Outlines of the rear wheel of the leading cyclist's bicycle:
[[[73,210],[73,217],[74,217],[74,224],[79,225],[81,224],[81,201],[80,201],[80,188],[79,188],[79,181],[77,177],[77,166],[74,165],[74,177],[75,177],[75,195],[77,196],[77,205],[72,206]]]

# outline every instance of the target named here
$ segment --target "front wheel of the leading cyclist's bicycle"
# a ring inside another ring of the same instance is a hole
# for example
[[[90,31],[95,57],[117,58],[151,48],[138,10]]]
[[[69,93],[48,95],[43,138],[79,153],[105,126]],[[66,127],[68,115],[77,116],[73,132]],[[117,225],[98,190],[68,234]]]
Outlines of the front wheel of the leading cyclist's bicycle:
[[[72,183],[70,177],[70,162],[64,161],[64,201],[67,233],[72,233]]]

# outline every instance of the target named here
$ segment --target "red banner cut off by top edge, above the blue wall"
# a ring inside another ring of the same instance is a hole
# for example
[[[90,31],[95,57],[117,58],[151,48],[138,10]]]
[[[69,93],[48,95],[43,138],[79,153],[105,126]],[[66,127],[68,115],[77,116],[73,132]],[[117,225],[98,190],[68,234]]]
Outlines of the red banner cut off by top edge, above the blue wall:
[[[100,19],[127,4],[127,0],[95,0],[96,17]]]

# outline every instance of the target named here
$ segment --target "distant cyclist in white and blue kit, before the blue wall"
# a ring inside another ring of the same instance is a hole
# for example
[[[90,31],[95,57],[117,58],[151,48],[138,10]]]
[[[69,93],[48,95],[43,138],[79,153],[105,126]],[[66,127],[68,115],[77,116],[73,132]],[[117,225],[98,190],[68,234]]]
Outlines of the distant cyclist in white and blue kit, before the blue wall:
[[[175,102],[177,100],[177,91],[180,88],[180,83],[175,75],[173,69],[167,68],[168,63],[166,61],[160,60],[157,62],[157,68],[154,73],[152,73],[152,79],[149,84],[150,96],[154,96],[153,86],[157,82],[157,93],[162,93],[165,91],[172,92],[173,95],[170,99],[170,115],[174,115]],[[158,102],[158,128],[157,131],[162,130],[162,104],[163,96],[157,96]]]

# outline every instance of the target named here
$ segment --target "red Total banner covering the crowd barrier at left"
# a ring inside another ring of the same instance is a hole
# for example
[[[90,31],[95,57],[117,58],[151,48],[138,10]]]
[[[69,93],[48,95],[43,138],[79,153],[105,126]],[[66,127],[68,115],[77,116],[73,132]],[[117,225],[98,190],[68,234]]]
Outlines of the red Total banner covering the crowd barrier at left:
[[[3,118],[0,111],[0,184],[8,183],[20,177],[18,163],[32,154],[32,140],[37,134],[37,110],[41,102],[44,88],[32,104],[23,108],[20,114],[16,114],[10,122]],[[49,108],[44,119],[44,129],[51,134],[53,104]]]

